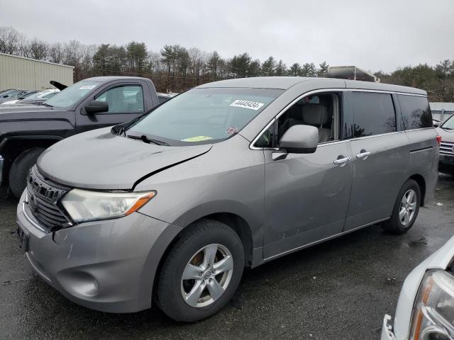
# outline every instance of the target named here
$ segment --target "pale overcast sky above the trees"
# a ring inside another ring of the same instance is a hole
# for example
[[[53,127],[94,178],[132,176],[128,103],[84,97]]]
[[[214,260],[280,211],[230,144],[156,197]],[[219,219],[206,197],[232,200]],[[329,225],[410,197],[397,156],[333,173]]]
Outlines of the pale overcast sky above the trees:
[[[2,1],[0,26],[48,42],[145,42],[373,72],[454,60],[454,0]]]

